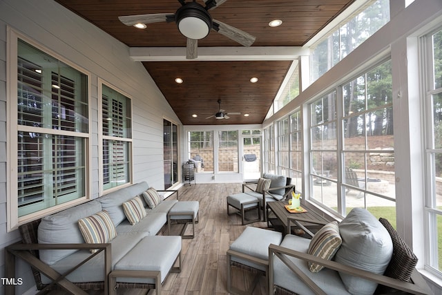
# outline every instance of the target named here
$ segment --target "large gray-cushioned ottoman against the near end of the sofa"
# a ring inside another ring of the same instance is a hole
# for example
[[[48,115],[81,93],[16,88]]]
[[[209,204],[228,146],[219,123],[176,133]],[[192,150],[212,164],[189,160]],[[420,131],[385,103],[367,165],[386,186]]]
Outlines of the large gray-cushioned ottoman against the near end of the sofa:
[[[146,236],[115,264],[109,274],[109,294],[117,294],[122,283],[132,287],[152,285],[160,295],[169,272],[181,272],[181,248],[180,236]],[[174,267],[177,261],[179,265]]]

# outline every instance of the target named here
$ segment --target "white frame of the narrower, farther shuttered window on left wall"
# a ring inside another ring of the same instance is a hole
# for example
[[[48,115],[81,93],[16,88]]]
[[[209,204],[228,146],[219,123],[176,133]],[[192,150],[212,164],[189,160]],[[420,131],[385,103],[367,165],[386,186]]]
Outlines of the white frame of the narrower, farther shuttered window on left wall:
[[[103,117],[103,86],[106,86],[108,88],[111,88],[113,91],[116,91],[117,93],[119,93],[120,95],[123,95],[124,97],[128,98],[131,101],[131,132],[130,132],[130,137],[117,137],[117,136],[112,136],[112,135],[104,135],[103,134],[103,120],[106,120],[106,118]],[[129,185],[132,184],[133,182],[133,130],[132,130],[132,126],[133,126],[133,103],[132,103],[132,98],[130,95],[128,95],[127,93],[125,93],[124,91],[122,91],[121,89],[113,86],[112,84],[104,81],[103,79],[98,79],[98,113],[99,113],[99,151],[101,151],[99,153],[99,169],[100,169],[100,173],[99,173],[99,184],[100,184],[100,196],[106,194],[106,193],[110,193],[111,191],[116,191],[118,189],[121,189],[122,187],[128,187]],[[103,140],[115,140],[115,141],[119,141],[119,142],[125,142],[128,143],[128,151],[126,151],[128,154],[126,155],[126,158],[128,159],[128,161],[130,162],[128,165],[128,172],[129,173],[129,177],[128,177],[128,182],[125,182],[124,184],[119,184],[115,187],[110,187],[108,189],[105,189],[104,187],[104,164],[103,164]]]

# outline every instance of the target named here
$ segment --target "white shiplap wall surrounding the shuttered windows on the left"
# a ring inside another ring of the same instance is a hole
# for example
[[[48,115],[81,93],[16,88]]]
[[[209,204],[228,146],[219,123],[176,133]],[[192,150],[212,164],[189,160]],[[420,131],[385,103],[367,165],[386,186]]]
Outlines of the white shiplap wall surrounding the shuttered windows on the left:
[[[92,124],[92,192],[99,196],[98,79],[121,89],[133,104],[133,182],[146,180],[164,187],[163,117],[180,122],[151,77],[139,62],[133,62],[128,47],[52,0],[0,1],[0,277],[4,274],[3,249],[19,239],[17,231],[6,231],[6,30],[7,26],[32,37],[57,55],[90,73]],[[13,135],[11,135],[13,136]],[[23,278],[18,294],[34,281],[29,267],[19,265]],[[3,294],[0,285],[0,294]]]

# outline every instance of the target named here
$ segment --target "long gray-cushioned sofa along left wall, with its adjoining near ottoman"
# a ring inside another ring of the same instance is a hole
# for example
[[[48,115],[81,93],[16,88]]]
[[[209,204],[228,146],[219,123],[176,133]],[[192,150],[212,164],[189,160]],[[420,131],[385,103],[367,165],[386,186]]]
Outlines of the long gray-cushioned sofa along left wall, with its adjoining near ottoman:
[[[178,202],[178,196],[173,191],[176,198],[157,200],[151,209],[142,198],[148,189],[146,182],[132,184],[22,225],[22,242],[6,247],[6,276],[15,277],[17,256],[31,265],[37,289],[61,288],[72,294],[86,294],[84,289],[104,289],[105,294],[112,294],[117,287],[135,287],[156,289],[160,294],[167,274],[181,269],[181,236],[156,236],[166,225],[167,213]],[[137,204],[141,200],[146,216],[135,216],[138,222],[132,225],[134,216],[130,222],[124,209],[137,196]],[[86,243],[79,220],[88,220],[102,211],[108,213],[116,236],[109,242]],[[114,276],[110,288],[111,272]],[[13,287],[7,290],[8,294],[14,292]]]

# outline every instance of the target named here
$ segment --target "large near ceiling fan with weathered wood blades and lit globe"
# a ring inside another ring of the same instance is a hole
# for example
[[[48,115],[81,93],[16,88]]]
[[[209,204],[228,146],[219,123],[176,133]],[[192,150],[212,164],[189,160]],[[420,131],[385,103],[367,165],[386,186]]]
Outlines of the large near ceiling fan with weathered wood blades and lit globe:
[[[186,2],[186,0],[177,0],[181,7],[173,13],[155,13],[153,15],[128,15],[118,17],[126,26],[135,26],[137,24],[159,23],[166,21],[168,23],[175,21],[178,30],[184,37],[187,37],[186,59],[195,59],[198,57],[198,40],[209,35],[210,30],[215,30],[221,35],[238,42],[242,46],[251,46],[256,37],[248,32],[229,26],[226,23],[212,19],[209,10],[217,8],[227,0],[204,0],[205,6],[197,3],[196,0]],[[145,26],[144,26],[145,28]]]

